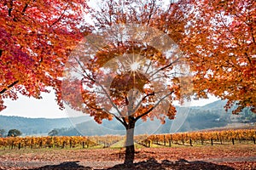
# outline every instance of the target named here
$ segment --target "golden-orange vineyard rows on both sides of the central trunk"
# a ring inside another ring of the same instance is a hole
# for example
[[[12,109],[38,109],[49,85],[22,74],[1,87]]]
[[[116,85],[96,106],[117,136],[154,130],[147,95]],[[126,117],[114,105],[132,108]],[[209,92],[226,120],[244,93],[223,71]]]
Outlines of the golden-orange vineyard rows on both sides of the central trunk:
[[[212,132],[191,132],[173,134],[153,134],[137,135],[135,141],[146,147],[152,144],[172,146],[172,144],[235,144],[242,141],[253,141],[255,144],[256,130],[224,130]],[[8,137],[0,138],[0,149],[21,149],[21,148],[89,148],[99,145],[99,147],[109,147],[112,144],[125,140],[124,136],[54,136],[54,137]],[[236,142],[235,142],[236,141]]]

